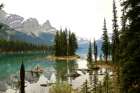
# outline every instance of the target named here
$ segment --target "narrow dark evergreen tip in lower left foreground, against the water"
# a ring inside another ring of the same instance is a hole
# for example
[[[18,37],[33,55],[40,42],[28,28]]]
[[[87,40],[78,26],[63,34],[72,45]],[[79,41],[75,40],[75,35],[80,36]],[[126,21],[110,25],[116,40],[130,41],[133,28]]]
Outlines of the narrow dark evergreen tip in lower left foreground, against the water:
[[[20,67],[20,93],[25,93],[25,68],[23,62]]]

